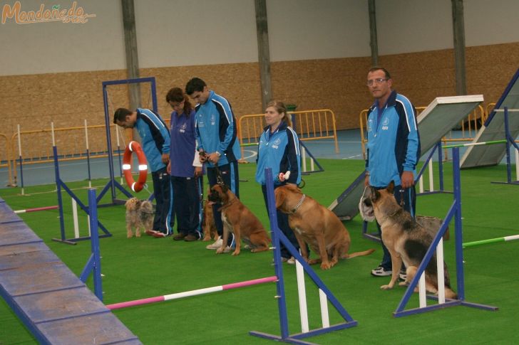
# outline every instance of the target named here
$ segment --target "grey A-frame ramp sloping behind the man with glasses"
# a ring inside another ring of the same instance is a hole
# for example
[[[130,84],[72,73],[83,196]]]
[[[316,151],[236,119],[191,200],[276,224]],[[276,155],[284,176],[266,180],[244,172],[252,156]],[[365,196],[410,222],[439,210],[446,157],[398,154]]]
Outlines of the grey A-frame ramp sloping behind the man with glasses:
[[[436,97],[417,117],[420,132],[420,156],[432,149],[474,108],[483,102],[483,95]],[[518,117],[519,120],[519,117]],[[341,220],[350,220],[359,213],[359,200],[364,191],[364,171],[328,207]]]

